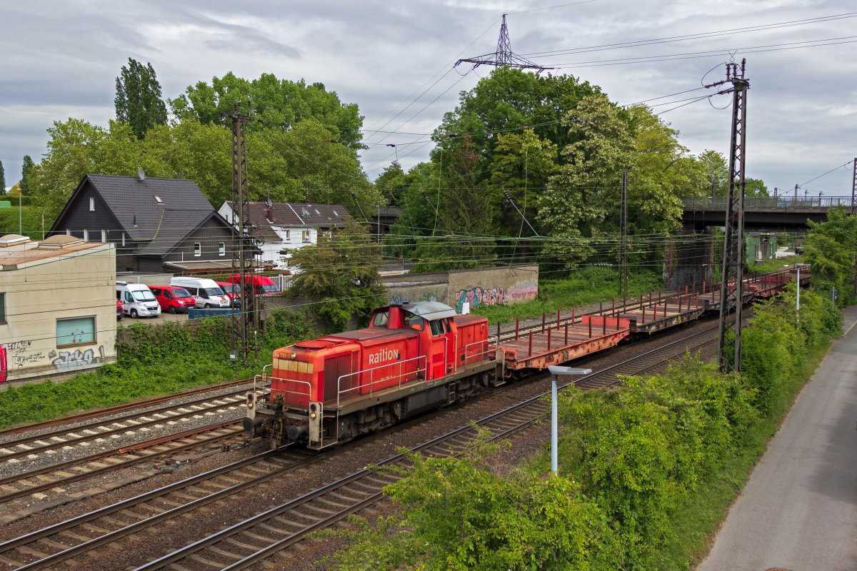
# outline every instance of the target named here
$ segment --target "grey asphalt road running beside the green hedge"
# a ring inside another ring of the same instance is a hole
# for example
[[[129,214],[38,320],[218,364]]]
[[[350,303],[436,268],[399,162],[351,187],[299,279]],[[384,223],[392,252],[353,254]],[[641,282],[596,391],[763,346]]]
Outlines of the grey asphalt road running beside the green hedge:
[[[857,308],[697,571],[857,569]]]

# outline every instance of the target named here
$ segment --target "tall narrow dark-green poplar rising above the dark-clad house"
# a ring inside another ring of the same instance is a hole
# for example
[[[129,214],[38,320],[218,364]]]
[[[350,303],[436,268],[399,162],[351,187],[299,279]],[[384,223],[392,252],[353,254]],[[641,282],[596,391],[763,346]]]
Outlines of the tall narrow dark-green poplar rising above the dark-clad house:
[[[154,125],[166,123],[166,105],[161,99],[161,90],[152,64],[144,66],[128,58],[128,66],[116,78],[116,119],[129,123],[138,139]]]

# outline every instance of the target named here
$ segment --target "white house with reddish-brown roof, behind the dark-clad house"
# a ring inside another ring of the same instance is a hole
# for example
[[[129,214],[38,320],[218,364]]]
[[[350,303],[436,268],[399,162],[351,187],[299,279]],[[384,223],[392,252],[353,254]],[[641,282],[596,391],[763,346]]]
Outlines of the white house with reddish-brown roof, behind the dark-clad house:
[[[224,202],[219,214],[229,222],[235,218],[232,202]],[[265,239],[262,245],[262,263],[274,265],[279,270],[288,270],[291,251],[315,244],[318,236],[330,235],[345,228],[351,214],[342,205],[293,204],[287,202],[250,202],[250,223],[256,233]]]

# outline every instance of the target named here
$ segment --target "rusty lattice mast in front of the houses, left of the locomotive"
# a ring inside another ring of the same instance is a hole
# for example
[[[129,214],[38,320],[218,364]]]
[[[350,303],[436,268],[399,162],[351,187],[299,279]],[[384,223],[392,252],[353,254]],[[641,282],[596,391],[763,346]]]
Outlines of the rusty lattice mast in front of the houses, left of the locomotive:
[[[247,366],[247,355],[258,351],[256,332],[261,323],[261,306],[256,296],[255,253],[260,240],[255,235],[255,227],[250,220],[250,198],[247,184],[247,136],[245,123],[255,121],[250,115],[250,101],[247,100],[247,115],[241,112],[241,104],[236,103],[230,114],[224,118],[232,122],[232,225],[237,227],[237,235],[232,238],[232,275],[238,276],[241,289],[241,314],[232,312],[232,348],[240,351],[241,362]],[[241,347],[238,345],[238,336]]]

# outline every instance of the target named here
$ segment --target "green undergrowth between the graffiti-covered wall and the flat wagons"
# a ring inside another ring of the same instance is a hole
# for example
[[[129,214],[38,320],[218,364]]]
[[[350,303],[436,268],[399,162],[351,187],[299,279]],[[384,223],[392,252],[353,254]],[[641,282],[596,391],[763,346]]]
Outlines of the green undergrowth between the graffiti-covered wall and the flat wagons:
[[[492,324],[541,317],[542,312],[549,318],[555,316],[558,309],[614,299],[618,282],[619,274],[613,268],[590,266],[572,271],[565,278],[540,279],[535,300],[510,306],[476,306],[472,312],[484,315]],[[662,278],[654,271],[634,271],[628,276],[628,290],[632,296],[660,288],[663,288]]]

